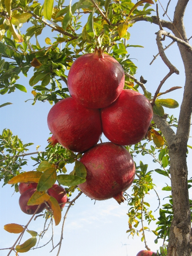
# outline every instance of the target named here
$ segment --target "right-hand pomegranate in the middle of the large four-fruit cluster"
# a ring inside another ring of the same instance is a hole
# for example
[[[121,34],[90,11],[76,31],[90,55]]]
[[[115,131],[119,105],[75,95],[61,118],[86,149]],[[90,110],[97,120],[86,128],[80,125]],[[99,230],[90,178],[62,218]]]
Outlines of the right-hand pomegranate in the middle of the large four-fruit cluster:
[[[133,90],[123,90],[117,100],[101,110],[103,133],[111,142],[133,145],[146,135],[153,117],[148,99]]]

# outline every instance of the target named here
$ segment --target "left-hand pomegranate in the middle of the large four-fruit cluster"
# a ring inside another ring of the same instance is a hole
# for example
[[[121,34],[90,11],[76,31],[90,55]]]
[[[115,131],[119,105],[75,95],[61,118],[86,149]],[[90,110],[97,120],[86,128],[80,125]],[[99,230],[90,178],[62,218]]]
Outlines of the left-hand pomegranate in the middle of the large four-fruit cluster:
[[[50,109],[47,123],[55,139],[75,152],[91,148],[102,134],[99,110],[85,108],[72,97],[62,99]]]

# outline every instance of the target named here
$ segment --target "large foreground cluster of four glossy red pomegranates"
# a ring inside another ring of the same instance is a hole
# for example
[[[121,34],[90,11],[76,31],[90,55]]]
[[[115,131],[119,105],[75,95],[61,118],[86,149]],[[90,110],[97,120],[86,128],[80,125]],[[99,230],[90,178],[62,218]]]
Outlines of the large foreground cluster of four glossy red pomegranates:
[[[82,192],[95,200],[113,197],[119,204],[135,175],[133,158],[122,145],[140,142],[153,116],[148,99],[123,90],[124,82],[119,62],[96,48],[73,62],[68,76],[72,97],[56,103],[47,117],[52,144],[84,152]],[[102,132],[111,142],[96,145]]]

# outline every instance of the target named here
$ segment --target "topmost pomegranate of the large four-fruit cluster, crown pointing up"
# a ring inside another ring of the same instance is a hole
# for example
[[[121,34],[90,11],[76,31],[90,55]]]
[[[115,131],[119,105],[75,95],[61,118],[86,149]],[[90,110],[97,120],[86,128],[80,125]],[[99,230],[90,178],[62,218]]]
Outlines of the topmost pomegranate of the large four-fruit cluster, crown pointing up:
[[[114,102],[125,82],[124,71],[116,59],[101,48],[77,58],[67,79],[70,94],[84,107],[104,108]]]

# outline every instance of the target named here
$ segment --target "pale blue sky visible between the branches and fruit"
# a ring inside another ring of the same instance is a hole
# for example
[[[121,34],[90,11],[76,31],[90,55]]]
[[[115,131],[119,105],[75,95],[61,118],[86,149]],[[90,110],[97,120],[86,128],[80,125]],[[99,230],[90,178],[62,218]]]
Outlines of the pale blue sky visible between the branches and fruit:
[[[74,1],[75,2],[75,1]],[[135,1],[136,2],[136,1]],[[168,0],[161,1],[164,8],[168,3]],[[172,0],[168,15],[172,19],[174,14],[176,0]],[[189,2],[186,10],[186,15],[184,17],[184,23],[186,26],[187,37],[192,35],[191,28],[191,8],[192,2]],[[155,9],[155,6],[154,6]],[[160,18],[162,17],[163,10],[159,6]],[[155,15],[155,13],[154,13]],[[166,20],[168,18],[164,17]],[[156,45],[156,35],[155,32],[158,31],[158,26],[155,24],[150,24],[147,22],[139,22],[134,24],[132,28],[129,29],[131,33],[131,38],[127,42],[129,44],[139,44],[144,46],[144,48],[128,48],[130,58],[135,58],[134,63],[138,67],[136,78],[139,80],[142,75],[148,82],[146,84],[147,90],[154,95],[156,88],[158,87],[160,81],[169,72],[168,67],[165,66],[162,59],[158,57],[154,63],[149,66],[149,63],[153,59],[153,55],[158,53]],[[167,30],[168,31],[168,30]],[[49,34],[47,34],[49,33]],[[50,30],[47,29],[41,37],[38,38],[41,46],[44,46],[44,38],[49,35],[52,39],[53,35]],[[171,43],[171,40],[166,38],[163,42],[164,46]],[[180,75],[173,74],[163,85],[161,91],[166,91],[173,86],[184,87],[184,67],[181,61],[180,53],[178,51],[176,43],[166,50],[166,55],[169,60],[174,64],[175,67],[180,71]],[[29,72],[28,77],[21,75],[19,83],[27,88],[27,93],[16,90],[14,93],[0,95],[0,104],[5,102],[12,102],[13,105],[8,105],[6,107],[0,108],[0,132],[4,128],[9,128],[14,135],[24,142],[33,142],[34,146],[30,146],[29,152],[36,151],[36,146],[41,145],[39,150],[43,151],[47,145],[47,138],[49,137],[49,129],[47,127],[47,114],[51,108],[49,102],[39,102],[32,106],[32,101],[26,101],[27,99],[32,99],[31,94],[32,88],[29,86],[29,79],[31,77]],[[142,93],[142,91],[140,91]],[[162,98],[172,98],[181,104],[183,96],[183,88],[173,91],[169,94],[163,95]],[[165,108],[165,112],[169,114],[174,114],[178,117],[179,108],[168,109]],[[105,141],[105,139],[103,139]],[[192,139],[189,139],[189,145],[192,145]],[[189,149],[189,155],[187,157],[189,178],[192,176],[191,164],[192,164],[192,150]],[[33,161],[29,159],[28,166],[26,166],[25,171],[31,171],[33,169]],[[152,170],[159,168],[158,164],[152,162],[150,157],[142,157],[138,155],[134,158],[137,165],[139,160],[142,160],[144,164],[148,164],[148,169]],[[68,173],[71,171],[72,165],[67,165]],[[169,179],[165,176],[158,175],[154,173],[154,183],[157,185],[157,191],[161,198],[161,204],[165,203],[163,198],[169,195],[169,192],[162,191],[161,188],[166,186],[165,183],[169,183]],[[1,182],[0,185],[3,185]],[[191,190],[191,189],[190,189]],[[189,190],[189,191],[190,191]],[[14,192],[14,188],[10,185],[6,185],[3,188],[0,187],[0,248],[11,247],[15,240],[17,239],[17,234],[11,234],[3,229],[3,226],[8,223],[18,223],[25,225],[30,216],[21,212],[18,205],[19,194]],[[131,193],[131,188],[128,190]],[[76,194],[75,194],[76,195]],[[75,197],[75,195],[73,197]],[[190,192],[190,198],[191,198]],[[158,206],[157,197],[154,192],[146,196],[147,202],[151,204],[152,209],[156,209]],[[62,212],[64,216],[66,207]],[[64,227],[64,239],[61,247],[60,255],[70,255],[70,256],[126,256],[126,247],[128,256],[136,256],[137,252],[145,249],[145,245],[140,241],[140,237],[131,237],[128,239],[126,230],[128,230],[128,206],[126,202],[124,204],[117,204],[114,199],[106,201],[94,201],[90,198],[81,195],[76,201],[75,205],[69,210],[67,215],[66,224]],[[158,217],[158,211],[155,212],[155,217]],[[36,221],[30,223],[29,229],[40,232],[43,230],[43,218],[39,217]],[[154,222],[155,223],[155,222]],[[151,229],[155,229],[153,223],[150,224]],[[59,226],[54,227],[54,244],[56,245],[60,239],[61,223]],[[50,232],[44,235],[44,238],[40,241],[40,246],[49,241],[51,236]],[[26,233],[23,237],[23,242],[30,238],[30,235]],[[157,250],[162,242],[154,244],[154,239],[156,236],[153,233],[146,232],[146,241],[151,248],[151,250]],[[123,245],[122,244],[127,244]],[[26,253],[27,256],[36,255],[53,255],[57,253],[55,249],[49,254],[51,250],[51,244],[37,250],[30,250]],[[0,256],[6,256],[8,251],[0,251]],[[14,255],[14,252],[12,252]]]

